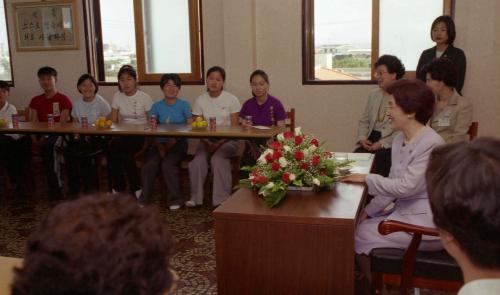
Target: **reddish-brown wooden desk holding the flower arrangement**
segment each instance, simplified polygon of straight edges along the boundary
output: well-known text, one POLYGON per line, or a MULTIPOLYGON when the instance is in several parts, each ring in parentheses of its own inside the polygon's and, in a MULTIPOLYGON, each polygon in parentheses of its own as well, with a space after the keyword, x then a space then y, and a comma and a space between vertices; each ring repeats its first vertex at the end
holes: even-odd
MULTIPOLYGON (((367 173, 372 158, 356 162, 367 173)), ((353 294, 354 230, 366 186, 289 192, 269 209, 240 189, 215 211, 218 294, 353 294)))

